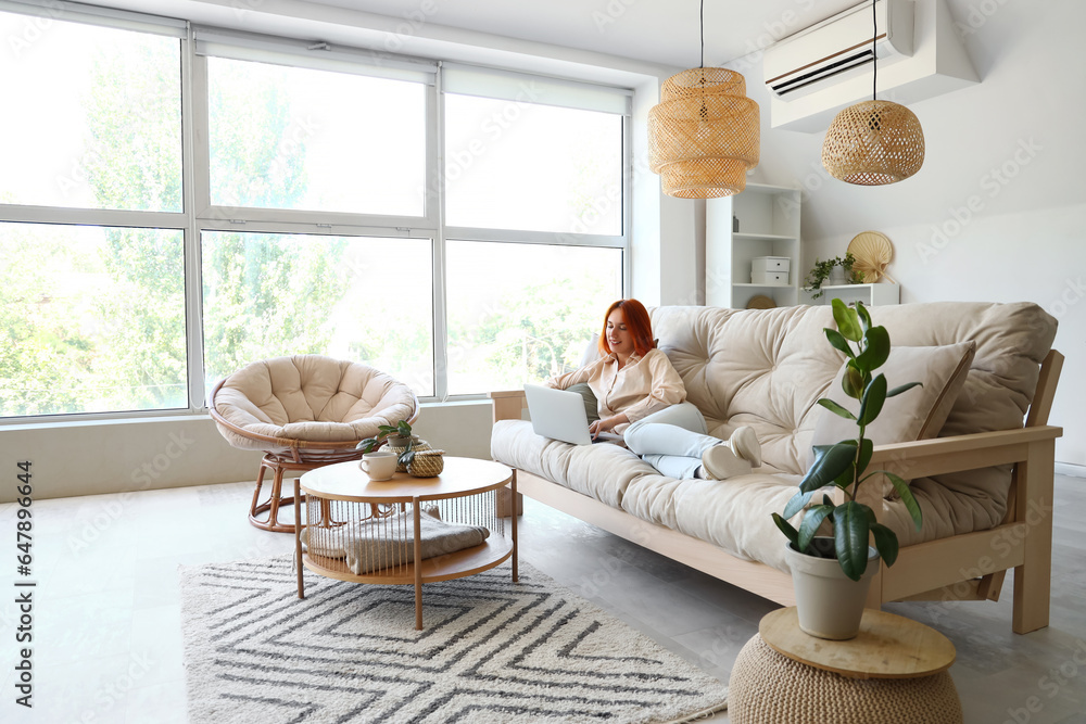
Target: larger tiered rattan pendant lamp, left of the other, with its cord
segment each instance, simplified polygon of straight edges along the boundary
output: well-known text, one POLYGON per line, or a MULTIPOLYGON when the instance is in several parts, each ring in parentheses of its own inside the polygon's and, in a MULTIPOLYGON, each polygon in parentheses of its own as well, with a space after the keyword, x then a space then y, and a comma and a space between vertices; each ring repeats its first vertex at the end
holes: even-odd
POLYGON ((648 162, 664 193, 717 199, 746 188, 758 165, 758 104, 734 71, 705 67, 705 0, 702 0, 702 66, 668 78, 660 103, 648 112, 648 162))

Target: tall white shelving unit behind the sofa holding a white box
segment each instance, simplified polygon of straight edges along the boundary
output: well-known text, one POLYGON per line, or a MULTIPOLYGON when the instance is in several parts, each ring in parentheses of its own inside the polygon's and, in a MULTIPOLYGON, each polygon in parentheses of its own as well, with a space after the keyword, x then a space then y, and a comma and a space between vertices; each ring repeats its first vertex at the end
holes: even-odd
POLYGON ((705 303, 745 309, 756 295, 776 306, 799 304, 799 189, 747 183, 734 196, 710 199, 705 217, 705 303), (732 230, 732 217, 738 231, 732 230), (791 259, 787 284, 754 284, 750 261, 758 256, 791 259))

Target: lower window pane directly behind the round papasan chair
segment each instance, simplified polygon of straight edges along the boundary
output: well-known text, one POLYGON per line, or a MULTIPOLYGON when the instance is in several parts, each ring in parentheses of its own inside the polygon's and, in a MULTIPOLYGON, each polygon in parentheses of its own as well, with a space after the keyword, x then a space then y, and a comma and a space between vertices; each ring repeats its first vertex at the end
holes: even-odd
POLYGON ((205 231, 206 382, 254 359, 326 354, 364 361, 417 395, 432 395, 430 245, 205 231))

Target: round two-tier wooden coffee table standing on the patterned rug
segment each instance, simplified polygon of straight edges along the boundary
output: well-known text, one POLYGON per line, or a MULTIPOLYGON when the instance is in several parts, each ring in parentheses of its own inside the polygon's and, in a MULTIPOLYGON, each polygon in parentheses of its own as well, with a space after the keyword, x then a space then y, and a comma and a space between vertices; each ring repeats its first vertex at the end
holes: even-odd
POLYGON ((303 566, 340 581, 414 584, 415 627, 421 630, 424 583, 472 575, 509 559, 517 581, 517 517, 506 530, 497 515, 497 491, 506 485, 515 496, 515 470, 458 457, 445 457, 434 478, 397 472, 372 481, 357 461, 306 472, 294 481, 294 500, 305 494, 305 520, 294 505, 298 597, 305 597, 303 566), (489 535, 478 545, 424 558, 420 518, 427 513, 443 523, 485 528, 489 535))

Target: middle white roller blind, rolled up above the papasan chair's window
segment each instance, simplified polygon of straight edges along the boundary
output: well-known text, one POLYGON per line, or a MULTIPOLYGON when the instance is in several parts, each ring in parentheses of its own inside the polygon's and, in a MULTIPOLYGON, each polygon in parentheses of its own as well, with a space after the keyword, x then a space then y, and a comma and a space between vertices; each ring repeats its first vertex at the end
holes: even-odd
POLYGON ((438 71, 438 64, 430 61, 252 33, 198 27, 195 40, 198 55, 236 61, 257 61, 426 84, 433 82, 438 71))

